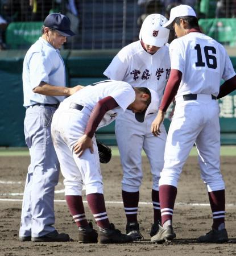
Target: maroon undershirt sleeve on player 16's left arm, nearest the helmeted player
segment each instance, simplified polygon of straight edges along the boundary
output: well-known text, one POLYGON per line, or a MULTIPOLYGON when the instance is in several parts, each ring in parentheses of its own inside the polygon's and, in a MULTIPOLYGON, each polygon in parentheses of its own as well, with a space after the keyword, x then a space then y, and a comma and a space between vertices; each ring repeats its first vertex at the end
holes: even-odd
POLYGON ((167 86, 165 87, 162 102, 160 103, 159 109, 166 112, 169 104, 171 104, 173 98, 179 89, 180 82, 182 79, 182 72, 177 69, 171 69, 167 86))

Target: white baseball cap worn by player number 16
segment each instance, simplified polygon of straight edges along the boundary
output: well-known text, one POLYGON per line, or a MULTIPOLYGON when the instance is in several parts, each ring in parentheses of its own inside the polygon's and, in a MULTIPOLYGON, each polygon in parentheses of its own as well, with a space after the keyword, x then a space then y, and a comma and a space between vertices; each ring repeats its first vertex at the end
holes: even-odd
POLYGON ((169 16, 169 21, 164 24, 163 27, 168 28, 169 30, 172 29, 172 23, 175 18, 182 17, 182 16, 194 16, 196 17, 195 11, 189 5, 178 5, 171 9, 171 15, 169 16))

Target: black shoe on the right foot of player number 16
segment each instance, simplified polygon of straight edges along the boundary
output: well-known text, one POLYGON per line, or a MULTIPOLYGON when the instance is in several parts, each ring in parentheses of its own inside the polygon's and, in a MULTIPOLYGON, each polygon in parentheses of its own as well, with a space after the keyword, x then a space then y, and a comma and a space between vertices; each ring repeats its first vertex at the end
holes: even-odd
POLYGON ((199 237, 197 241, 201 243, 224 243, 229 241, 229 238, 226 229, 212 229, 205 236, 199 237))

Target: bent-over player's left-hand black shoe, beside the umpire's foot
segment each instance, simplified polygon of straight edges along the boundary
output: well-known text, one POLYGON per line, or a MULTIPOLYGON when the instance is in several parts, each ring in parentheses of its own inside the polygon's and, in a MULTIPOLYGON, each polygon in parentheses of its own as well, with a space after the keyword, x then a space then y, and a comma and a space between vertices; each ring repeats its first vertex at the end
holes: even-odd
POLYGON ((97 243, 97 230, 93 229, 92 222, 85 228, 78 228, 78 242, 80 243, 97 243))

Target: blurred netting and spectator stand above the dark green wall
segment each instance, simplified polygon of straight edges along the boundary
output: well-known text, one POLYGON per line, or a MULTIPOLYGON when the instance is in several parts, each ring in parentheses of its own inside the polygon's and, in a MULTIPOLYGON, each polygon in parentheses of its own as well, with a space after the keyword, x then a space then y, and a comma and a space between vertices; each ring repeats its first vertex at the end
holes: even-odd
POLYGON ((42 21, 49 13, 61 12, 71 19, 76 36, 69 49, 121 48, 138 39, 146 15, 169 16, 173 6, 191 5, 202 30, 215 39, 235 45, 236 0, 1 0, 2 47, 27 48, 40 36, 42 21), (227 41, 221 35, 227 34, 227 41), (234 36, 233 36, 234 35, 234 36))

